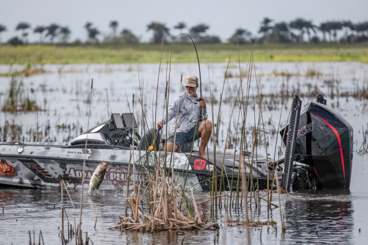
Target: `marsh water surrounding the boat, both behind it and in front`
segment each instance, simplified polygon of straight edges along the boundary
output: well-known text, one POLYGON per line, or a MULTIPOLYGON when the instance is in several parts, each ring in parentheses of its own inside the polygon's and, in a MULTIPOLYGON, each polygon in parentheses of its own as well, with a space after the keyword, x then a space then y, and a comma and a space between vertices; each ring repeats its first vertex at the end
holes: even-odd
MULTIPOLYGON (((212 92, 218 97, 225 64, 210 64, 210 80, 212 92)), ((51 131, 57 139, 62 139, 68 132, 57 131, 55 125, 61 123, 79 123, 85 130, 88 115, 86 114, 90 78, 95 79, 94 97, 92 98, 91 124, 101 122, 107 118, 106 94, 109 96, 110 111, 126 112, 127 102, 125 91, 131 100, 131 94, 137 94, 138 71, 140 78, 145 80, 145 93, 147 112, 152 111, 152 95, 156 91, 157 64, 141 65, 50 65, 44 67, 47 73, 24 78, 26 90, 33 88, 31 98, 43 104, 46 98, 46 111, 39 112, 39 122, 51 121, 51 131), (107 92, 106 92, 107 91, 107 92)), ((16 69, 16 67, 13 67, 16 69)), ((172 66, 173 86, 170 97, 179 93, 179 77, 184 73, 195 73, 196 64, 175 64, 172 66)), ((230 71, 237 73, 237 67, 230 71)), ((308 91, 307 84, 319 87, 328 99, 329 105, 335 108, 349 121, 354 128, 354 149, 359 149, 362 144, 362 125, 367 127, 367 101, 354 98, 329 98, 330 88, 323 83, 324 79, 336 78, 341 80, 340 93, 354 91, 357 87, 364 87, 367 83, 368 65, 360 63, 261 63, 257 64, 260 74, 263 94, 267 94, 272 82, 274 90, 281 91, 286 83, 285 77, 272 77, 269 74, 277 72, 305 74, 308 69, 315 69, 321 74, 319 77, 302 77, 300 89, 308 91), (266 92, 265 92, 266 91, 266 92)), ((8 66, 0 66, 0 72, 7 72, 8 66)), ((164 73, 164 72, 163 72, 164 73)), ((164 74, 161 75, 161 78, 164 74)), ((209 79, 203 74, 203 79, 209 79), (204 78, 205 77, 205 78, 204 78)), ((291 76, 288 86, 293 86, 299 81, 299 76, 291 76)), ((163 78, 164 80, 164 78, 163 78)), ((9 78, 0 77, 0 96, 6 96, 9 78)), ((161 81, 162 82, 162 81, 161 81)), ((163 81, 164 82, 164 81, 163 81)), ((208 81, 207 81, 208 82, 208 81)), ((234 97, 237 91, 238 78, 233 77, 225 86, 226 97, 234 97)), ((205 86, 205 85, 204 85, 205 86)), ((207 85, 206 85, 207 86, 207 85)), ((296 85, 295 85, 296 86, 296 85)), ((256 91, 256 90, 255 90, 256 91)), ((159 90, 162 96, 163 91, 159 90)), ((209 90, 204 89, 204 96, 209 98, 209 90)), ((162 96, 163 97, 163 96, 162 96)), ((302 98, 303 99, 303 98, 302 98)), ((224 102, 225 108, 230 108, 232 100, 224 102), (227 107, 226 107, 227 106, 227 107)), ((306 104, 308 99, 304 99, 306 104)), ((162 101, 158 101, 162 105, 162 101)), ((284 113, 288 113, 286 106, 284 113)), ((139 115, 137 104, 136 114, 139 115)), ((160 114, 162 111, 158 112, 160 114)), ((227 120, 231 110, 222 110, 222 121, 227 120)), ((253 111, 251 111, 253 114, 253 111)), ((214 110, 217 116, 217 109, 214 110)), ((211 115, 211 112, 210 112, 211 115)), ((283 114, 284 115, 284 114, 283 114)), ((28 128, 34 128, 34 113, 0 113, 2 120, 15 120, 21 124, 24 132, 28 128)), ((252 115, 253 116, 253 115, 252 115)), ((269 109, 264 112, 264 121, 270 121, 271 125, 277 124, 280 116, 280 108, 269 109)), ((287 115, 284 115, 287 117, 287 115)), ((151 115, 149 116, 151 117, 151 115)), ((159 116, 158 116, 159 117, 159 116)), ((2 123, 1 123, 2 124, 2 123)), ((227 124, 221 125, 226 131, 227 124)), ((270 130, 270 124, 266 125, 266 131, 270 130)), ((79 129, 75 129, 77 134, 79 129)), ((73 132, 72 132, 73 134, 73 132)), ((222 136, 225 135, 224 133, 222 136)), ((270 137, 270 147, 275 147, 274 135, 270 137)), ((221 142, 221 141, 220 141, 221 142)), ((224 143, 220 143, 224 144, 224 143)), ((258 153, 263 153, 259 149, 258 153), (261 152, 260 152, 261 151, 261 152)), ((245 220, 244 210, 217 209, 210 212, 210 205, 202 203, 199 211, 207 215, 209 221, 218 221, 218 231, 190 231, 190 232, 160 232, 144 234, 137 232, 120 232, 107 228, 118 222, 118 216, 124 215, 125 196, 123 193, 99 192, 94 196, 85 196, 83 200, 82 230, 94 244, 368 244, 368 191, 367 191, 367 155, 354 153, 351 185, 349 191, 323 190, 307 191, 296 194, 282 195, 282 207, 285 208, 287 231, 281 232, 280 211, 273 208, 267 212, 264 202, 261 202, 260 210, 251 210, 252 221, 277 221, 277 230, 264 226, 260 228, 231 227, 229 218, 245 220), (96 217, 98 219, 94 229, 96 217), (318 227, 318 232, 316 229, 318 227)), ((73 224, 79 222, 80 191, 71 190, 71 196, 76 204, 73 209, 68 196, 64 195, 64 203, 69 221, 73 224)), ((209 196, 208 193, 195 193, 196 197, 209 196)), ((274 195, 274 203, 278 203, 274 195)), ((67 219, 65 219, 65 224, 67 219)), ((35 231, 38 243, 39 230, 42 230, 45 244, 59 243, 58 237, 61 227, 61 195, 59 190, 31 190, 31 189, 0 189, 0 245, 2 244, 26 244, 29 241, 28 231, 35 231), (3 208, 3 209, 2 209, 3 208), (2 213, 3 211, 3 213, 2 213)), ((41 243, 42 244, 42 243, 41 243)))

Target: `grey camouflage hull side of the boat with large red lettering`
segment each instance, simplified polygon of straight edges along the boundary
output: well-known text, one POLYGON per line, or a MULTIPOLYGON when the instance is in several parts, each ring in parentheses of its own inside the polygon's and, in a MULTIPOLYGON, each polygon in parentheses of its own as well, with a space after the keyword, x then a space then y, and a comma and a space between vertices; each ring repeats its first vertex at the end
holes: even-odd
MULTIPOLYGON (((67 187, 71 189, 80 189, 83 174, 83 161, 81 159, 51 159, 31 158, 19 154, 18 157, 0 156, 4 166, 0 173, 0 183, 9 186, 19 186, 27 188, 57 188, 60 186, 60 180, 64 180, 67 187)), ((170 156, 168 156, 170 157, 170 156)), ((175 167, 182 166, 185 168, 185 156, 173 157, 173 165, 175 167)), ((162 159, 163 160, 163 159, 162 159)), ((169 159, 168 159, 168 162, 169 159)), ((89 180, 100 161, 86 160, 84 172, 84 187, 88 188, 89 180)), ((161 165, 163 162, 161 162, 161 165)), ((131 164, 131 181, 134 179, 141 180, 145 176, 146 169, 139 165, 138 161, 134 165, 131 164)), ((122 189, 127 184, 128 163, 113 162, 107 167, 105 180, 102 182, 100 189, 114 190, 122 189)), ((178 169, 175 176, 179 183, 184 183, 185 172, 178 169)), ((192 186, 198 183, 197 176, 188 173, 186 176, 186 186, 192 186)), ((199 187, 197 185, 196 187, 199 187)), ((200 187, 199 187, 200 188, 200 187)))

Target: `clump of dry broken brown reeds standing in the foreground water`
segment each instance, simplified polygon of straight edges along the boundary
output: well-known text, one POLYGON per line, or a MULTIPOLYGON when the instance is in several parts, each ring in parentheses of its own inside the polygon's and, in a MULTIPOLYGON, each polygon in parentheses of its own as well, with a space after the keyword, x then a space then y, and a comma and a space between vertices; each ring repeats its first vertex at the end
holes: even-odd
MULTIPOLYGON (((147 180, 150 193, 147 198, 148 204, 151 206, 148 213, 138 206, 140 200, 139 192, 136 198, 128 197, 127 203, 131 210, 131 216, 119 216, 119 223, 109 229, 121 229, 141 232, 157 232, 163 230, 188 230, 188 229, 216 229, 217 222, 206 224, 206 218, 200 214, 194 199, 193 192, 191 199, 193 204, 190 205, 189 198, 185 196, 182 189, 181 195, 178 197, 178 189, 175 178, 171 178, 169 182, 165 176, 165 171, 157 169, 155 175, 150 175, 147 180), (181 199, 182 204, 179 205, 181 199), (181 206, 184 206, 183 210, 181 206)), ((141 184, 139 190, 141 190, 141 184)))

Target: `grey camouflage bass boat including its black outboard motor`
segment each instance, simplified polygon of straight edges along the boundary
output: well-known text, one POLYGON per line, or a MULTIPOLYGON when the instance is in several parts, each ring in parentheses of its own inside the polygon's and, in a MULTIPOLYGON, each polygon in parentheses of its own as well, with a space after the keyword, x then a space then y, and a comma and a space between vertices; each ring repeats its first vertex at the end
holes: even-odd
POLYGON ((64 181, 67 188, 80 189, 84 175, 84 187, 88 188, 96 167, 111 161, 100 190, 123 190, 128 176, 130 181, 143 179, 158 165, 184 188, 200 191, 241 188, 242 176, 260 190, 267 184, 275 189, 275 176, 286 190, 349 188, 353 129, 326 105, 323 96, 303 110, 295 96, 289 124, 280 137, 286 145, 282 159, 217 148, 209 148, 208 157, 199 157, 193 144, 180 153, 164 152, 159 130, 146 130, 141 137, 132 113, 113 113, 70 143, 1 143, 0 187, 50 189, 60 188, 64 181), (240 156, 245 172, 239 168, 240 156))

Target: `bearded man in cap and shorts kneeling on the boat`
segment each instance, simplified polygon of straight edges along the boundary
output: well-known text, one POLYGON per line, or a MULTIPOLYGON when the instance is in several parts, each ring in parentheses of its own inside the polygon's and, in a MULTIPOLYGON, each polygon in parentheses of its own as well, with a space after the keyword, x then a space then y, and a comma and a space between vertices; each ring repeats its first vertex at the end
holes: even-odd
MULTIPOLYGON (((206 147, 210 140, 212 123, 207 120, 206 100, 197 97, 198 86, 198 77, 194 75, 185 77, 185 92, 174 99, 167 112, 167 122, 176 119, 177 116, 178 122, 167 138, 163 150, 171 151, 174 146, 175 152, 181 152, 185 143, 201 138, 198 156, 207 157, 206 147)), ((164 114, 157 123, 157 128, 167 122, 164 114)))

